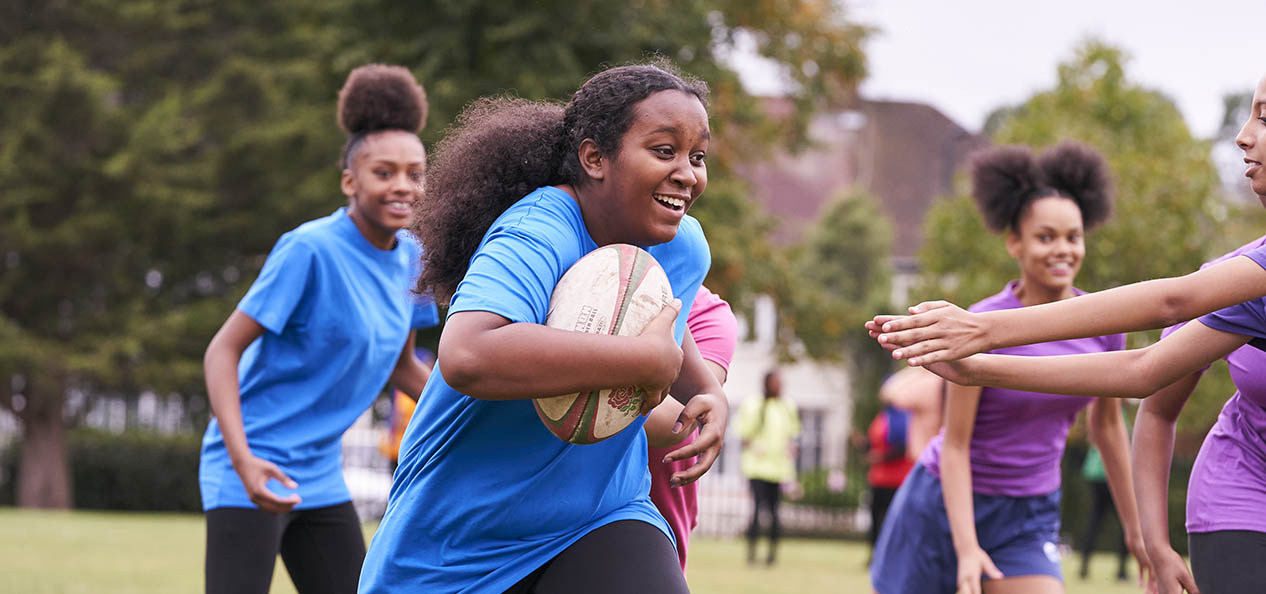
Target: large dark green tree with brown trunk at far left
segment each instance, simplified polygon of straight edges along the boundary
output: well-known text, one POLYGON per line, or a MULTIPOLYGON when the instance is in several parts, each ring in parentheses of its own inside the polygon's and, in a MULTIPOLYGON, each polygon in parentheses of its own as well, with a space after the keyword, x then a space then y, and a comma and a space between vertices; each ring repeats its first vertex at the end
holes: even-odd
POLYGON ((23 424, 18 503, 63 508, 66 395, 200 395, 242 279, 341 203, 330 77, 298 6, 0 11, 0 407, 23 424))

